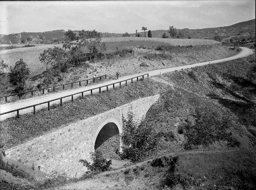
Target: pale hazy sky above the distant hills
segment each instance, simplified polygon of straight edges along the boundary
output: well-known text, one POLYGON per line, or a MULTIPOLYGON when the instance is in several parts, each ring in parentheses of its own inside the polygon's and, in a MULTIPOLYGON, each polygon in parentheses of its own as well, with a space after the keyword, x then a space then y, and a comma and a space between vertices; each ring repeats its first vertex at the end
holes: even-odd
POLYGON ((0 34, 58 29, 135 33, 212 28, 255 19, 255 0, 221 1, 2 1, 0 34))

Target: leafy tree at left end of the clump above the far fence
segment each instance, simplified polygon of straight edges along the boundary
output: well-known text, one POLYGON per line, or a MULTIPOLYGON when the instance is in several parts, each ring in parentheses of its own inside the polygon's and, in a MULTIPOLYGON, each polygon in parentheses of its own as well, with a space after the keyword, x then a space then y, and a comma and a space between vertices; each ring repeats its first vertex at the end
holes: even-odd
POLYGON ((67 71, 67 53, 64 49, 54 46, 40 54, 39 60, 46 65, 47 82, 52 84, 54 77, 61 79, 61 73, 67 71))

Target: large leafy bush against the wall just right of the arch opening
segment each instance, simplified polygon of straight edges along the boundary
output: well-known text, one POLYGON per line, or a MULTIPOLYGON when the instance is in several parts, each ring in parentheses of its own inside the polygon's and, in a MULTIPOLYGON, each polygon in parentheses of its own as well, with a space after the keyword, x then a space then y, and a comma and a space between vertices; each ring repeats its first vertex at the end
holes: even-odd
POLYGON ((120 136, 123 146, 122 153, 119 153, 121 159, 136 162, 154 150, 159 136, 151 126, 135 120, 131 110, 127 113, 127 119, 123 117, 122 122, 123 132, 120 136))

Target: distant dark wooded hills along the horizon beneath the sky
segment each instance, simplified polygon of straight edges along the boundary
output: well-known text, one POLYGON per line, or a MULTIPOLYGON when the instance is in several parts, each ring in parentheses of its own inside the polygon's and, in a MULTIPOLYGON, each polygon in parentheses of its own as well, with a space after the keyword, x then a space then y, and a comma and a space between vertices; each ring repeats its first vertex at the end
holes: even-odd
MULTIPOLYGON (((166 28, 168 28, 167 26, 166 28)), ((138 28, 140 30, 140 28, 138 28)), ((150 29, 150 28, 148 28, 150 29)), ((79 31, 75 31, 78 34, 79 31)), ((217 28, 202 28, 202 29, 177 29, 181 38, 200 38, 200 39, 212 39, 215 36, 219 36, 220 40, 229 40, 230 38, 244 38, 255 36, 255 19, 236 23, 231 26, 217 27, 217 28)), ((124 32, 125 33, 125 32, 124 32)), ((169 35, 168 30, 154 30, 152 31, 152 37, 162 37, 163 33, 169 35)), ((21 32, 18 34, 0 34, 0 44, 9 43, 58 43, 64 40, 65 31, 54 30, 46 32, 21 32)), ((138 32, 140 36, 144 36, 144 31, 138 32)), ((136 34, 130 34, 134 37, 136 34)), ((116 33, 102 33, 102 37, 122 37, 122 34, 116 33)))

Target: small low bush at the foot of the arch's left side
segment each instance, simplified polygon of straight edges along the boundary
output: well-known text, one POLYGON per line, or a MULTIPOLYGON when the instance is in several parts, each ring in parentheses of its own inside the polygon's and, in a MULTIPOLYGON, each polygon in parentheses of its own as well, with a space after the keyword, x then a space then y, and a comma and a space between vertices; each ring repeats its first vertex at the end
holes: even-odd
POLYGON ((109 167, 112 164, 112 161, 107 161, 105 158, 103 158, 102 153, 100 153, 99 151, 90 153, 90 158, 93 161, 92 164, 85 159, 80 159, 79 162, 81 162, 91 172, 107 171, 109 170, 109 167))

